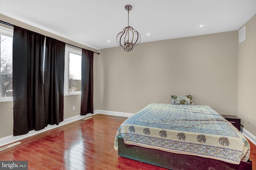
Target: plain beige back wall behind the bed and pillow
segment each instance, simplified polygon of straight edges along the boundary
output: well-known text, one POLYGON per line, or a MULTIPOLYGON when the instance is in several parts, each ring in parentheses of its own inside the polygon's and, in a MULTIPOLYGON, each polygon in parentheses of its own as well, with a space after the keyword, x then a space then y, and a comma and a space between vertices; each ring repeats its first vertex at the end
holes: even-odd
POLYGON ((171 95, 192 95, 195 105, 237 115, 237 31, 140 43, 132 51, 102 49, 98 108, 136 113, 171 95))

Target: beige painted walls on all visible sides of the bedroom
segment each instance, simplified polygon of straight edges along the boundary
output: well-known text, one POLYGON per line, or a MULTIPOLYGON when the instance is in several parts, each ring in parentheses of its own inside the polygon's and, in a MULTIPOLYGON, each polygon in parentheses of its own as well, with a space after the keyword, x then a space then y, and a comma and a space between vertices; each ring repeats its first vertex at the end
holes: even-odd
MULTIPOLYGON (((97 51, 0 14, 0 20, 66 43, 97 51)), ((193 95, 195 105, 238 115, 256 135, 256 16, 246 24, 246 41, 224 32, 140 43, 94 55, 94 110, 136 113, 149 103, 170 103, 170 95, 193 95), (250 116, 250 124, 246 123, 250 116)), ((64 119, 79 115, 80 95, 64 97, 64 119), (76 111, 72 111, 76 106, 76 111)), ((12 102, 0 103, 0 138, 12 135, 12 102)))

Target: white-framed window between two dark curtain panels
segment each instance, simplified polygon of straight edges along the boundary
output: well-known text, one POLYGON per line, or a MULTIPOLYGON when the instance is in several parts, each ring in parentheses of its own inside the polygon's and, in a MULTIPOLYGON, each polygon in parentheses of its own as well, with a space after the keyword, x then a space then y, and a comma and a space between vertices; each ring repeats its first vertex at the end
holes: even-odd
POLYGON ((81 94, 82 50, 66 45, 64 94, 81 94))

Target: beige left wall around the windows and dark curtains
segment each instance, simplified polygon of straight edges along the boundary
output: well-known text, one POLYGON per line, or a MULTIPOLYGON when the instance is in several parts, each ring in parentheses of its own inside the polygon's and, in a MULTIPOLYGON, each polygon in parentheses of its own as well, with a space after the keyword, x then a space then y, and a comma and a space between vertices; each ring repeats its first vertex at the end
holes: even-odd
MULTIPOLYGON (((24 24, 22 22, 19 22, 17 20, 14 20, 12 18, 6 17, 1 14, 0 14, 0 20, 7 22, 9 24, 13 24, 16 26, 20 26, 22 28, 26 28, 26 29, 34 31, 34 32, 38 32, 45 36, 55 38, 62 42, 66 42, 66 43, 69 43, 72 45, 76 45, 78 47, 82 47, 84 49, 89 49, 89 50, 98 52, 98 50, 96 50, 96 49, 92 49, 90 47, 78 44, 76 42, 72 42, 72 41, 62 38, 60 36, 56 36, 54 34, 51 34, 44 30, 40 30, 40 29, 30 26, 28 24, 24 24)), ((94 56, 96 57, 97 55, 98 54, 95 54, 94 56)), ((94 67, 96 68, 96 65, 94 67)), ((80 106, 81 106, 81 95, 64 96, 64 119, 74 117, 76 115, 80 115, 80 106), (75 111, 72 111, 72 106, 76 106, 75 111)), ((12 107, 13 107, 12 102, 0 102, 0 138, 3 138, 3 137, 13 134, 13 110, 12 110, 12 107)))

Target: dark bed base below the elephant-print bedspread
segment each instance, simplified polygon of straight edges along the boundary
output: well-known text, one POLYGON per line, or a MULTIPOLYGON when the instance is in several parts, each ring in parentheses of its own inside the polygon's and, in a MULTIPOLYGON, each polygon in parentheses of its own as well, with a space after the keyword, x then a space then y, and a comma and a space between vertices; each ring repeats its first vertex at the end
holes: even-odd
POLYGON ((172 170, 252 170, 252 162, 250 160, 248 162, 241 161, 239 165, 230 164, 210 158, 175 154, 162 150, 128 145, 124 143, 123 138, 118 138, 118 156, 172 170))

